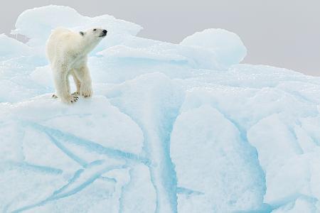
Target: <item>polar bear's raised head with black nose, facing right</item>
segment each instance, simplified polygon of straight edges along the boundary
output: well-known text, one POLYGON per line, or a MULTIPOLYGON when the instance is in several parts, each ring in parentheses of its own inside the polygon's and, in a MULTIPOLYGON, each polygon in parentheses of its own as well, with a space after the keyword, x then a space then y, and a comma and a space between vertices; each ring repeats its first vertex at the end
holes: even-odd
POLYGON ((85 32, 80 31, 82 45, 84 46, 86 52, 89 53, 95 46, 100 43, 102 38, 107 35, 107 30, 102 28, 91 28, 85 32))

